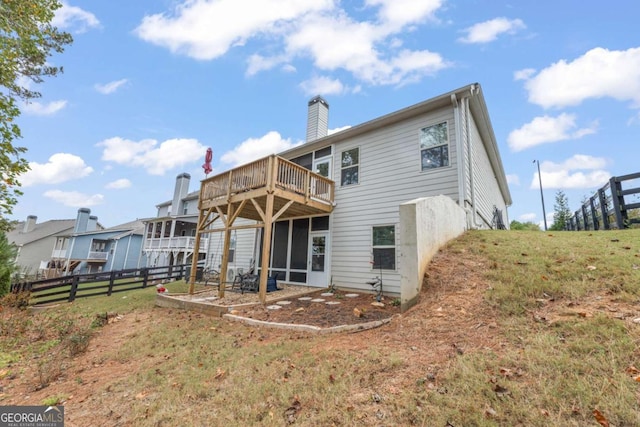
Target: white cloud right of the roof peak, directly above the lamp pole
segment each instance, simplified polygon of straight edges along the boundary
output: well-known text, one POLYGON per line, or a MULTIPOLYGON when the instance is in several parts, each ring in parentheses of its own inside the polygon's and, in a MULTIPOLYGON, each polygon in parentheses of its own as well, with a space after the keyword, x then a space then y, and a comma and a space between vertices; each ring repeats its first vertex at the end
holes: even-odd
POLYGON ((520 129, 512 131, 507 142, 513 151, 522 151, 540 144, 579 139, 585 135, 595 133, 598 123, 591 123, 589 127, 576 129, 576 115, 562 113, 557 117, 542 116, 534 118, 520 129))

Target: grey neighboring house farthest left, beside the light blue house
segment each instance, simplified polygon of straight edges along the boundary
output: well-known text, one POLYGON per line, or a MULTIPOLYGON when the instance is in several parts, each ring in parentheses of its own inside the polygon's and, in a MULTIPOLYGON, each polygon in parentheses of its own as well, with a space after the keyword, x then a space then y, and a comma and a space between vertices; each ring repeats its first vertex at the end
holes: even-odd
POLYGON ((16 265, 27 276, 36 275, 42 262, 51 257, 51 248, 58 237, 73 231, 75 219, 54 219, 38 223, 38 217, 29 215, 7 233, 9 243, 16 245, 16 265))

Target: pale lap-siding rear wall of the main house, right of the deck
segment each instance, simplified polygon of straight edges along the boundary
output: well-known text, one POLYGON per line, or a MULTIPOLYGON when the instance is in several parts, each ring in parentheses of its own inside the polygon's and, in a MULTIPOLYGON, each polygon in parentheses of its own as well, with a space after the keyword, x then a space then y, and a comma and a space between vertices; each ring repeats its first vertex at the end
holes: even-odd
POLYGON ((419 197, 458 197, 456 134, 453 108, 397 123, 334 146, 336 208, 332 214, 331 272, 339 287, 371 290, 366 280, 380 275, 372 268, 372 227, 394 225, 396 270, 382 270, 383 291, 400 294, 399 206, 419 197), (421 170, 420 129, 447 122, 449 166, 421 170), (341 153, 359 148, 358 184, 340 185, 341 153))

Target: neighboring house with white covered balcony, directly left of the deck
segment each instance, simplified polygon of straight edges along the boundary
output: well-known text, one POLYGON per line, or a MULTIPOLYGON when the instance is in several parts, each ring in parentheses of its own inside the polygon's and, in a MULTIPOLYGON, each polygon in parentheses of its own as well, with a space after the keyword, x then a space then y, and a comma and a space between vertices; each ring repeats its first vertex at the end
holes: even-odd
MULTIPOLYGON (((142 220, 145 229, 143 253, 150 267, 191 264, 193 260, 200 193, 199 191, 189 192, 190 181, 191 175, 188 173, 178 175, 173 199, 156 205, 158 209, 156 217, 142 220)), ((220 227, 222 224, 218 221, 211 226, 220 227)), ((248 271, 254 248, 255 231, 245 230, 231 234, 228 281, 233 281, 236 273, 248 271), (236 256, 236 254, 242 255, 236 256)), ((205 267, 219 270, 222 251, 223 236, 220 234, 204 235, 200 239, 198 258, 205 267)))

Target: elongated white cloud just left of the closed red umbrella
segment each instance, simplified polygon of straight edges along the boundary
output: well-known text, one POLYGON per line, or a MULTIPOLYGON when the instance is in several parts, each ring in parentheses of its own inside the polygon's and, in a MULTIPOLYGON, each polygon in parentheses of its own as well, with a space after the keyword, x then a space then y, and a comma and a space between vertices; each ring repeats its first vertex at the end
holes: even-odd
POLYGON ((202 162, 207 147, 195 139, 169 139, 160 144, 154 139, 131 141, 114 137, 96 144, 104 147, 102 160, 144 168, 151 175, 194 162, 202 162))

